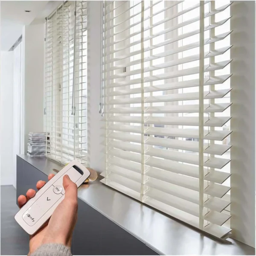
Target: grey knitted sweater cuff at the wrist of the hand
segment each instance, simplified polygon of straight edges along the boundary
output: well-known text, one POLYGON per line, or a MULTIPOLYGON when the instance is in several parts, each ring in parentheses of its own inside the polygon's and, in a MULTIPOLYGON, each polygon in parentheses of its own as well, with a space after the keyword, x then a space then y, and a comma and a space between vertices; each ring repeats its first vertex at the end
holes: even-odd
POLYGON ((43 244, 30 256, 72 256, 70 247, 63 244, 43 244))

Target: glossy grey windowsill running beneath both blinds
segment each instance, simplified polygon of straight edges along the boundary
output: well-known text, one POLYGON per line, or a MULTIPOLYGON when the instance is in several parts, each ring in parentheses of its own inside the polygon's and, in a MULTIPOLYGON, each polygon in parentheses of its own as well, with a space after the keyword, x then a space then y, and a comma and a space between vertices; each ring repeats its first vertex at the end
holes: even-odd
MULTIPOLYGON (((20 155, 46 175, 61 165, 46 157, 20 155)), ((231 244, 214 240, 198 230, 170 218, 102 184, 99 179, 79 188, 78 197, 105 217, 165 255, 254 255, 255 249, 233 239, 231 244)))

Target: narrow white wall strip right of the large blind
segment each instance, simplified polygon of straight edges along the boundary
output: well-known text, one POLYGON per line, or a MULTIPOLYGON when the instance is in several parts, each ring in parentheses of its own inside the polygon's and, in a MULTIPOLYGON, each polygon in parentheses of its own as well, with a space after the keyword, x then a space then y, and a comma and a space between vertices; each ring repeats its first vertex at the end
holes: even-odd
POLYGON ((234 1, 230 13, 232 237, 255 247, 255 2, 234 1))

